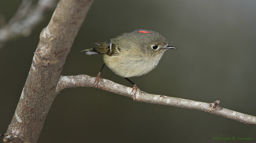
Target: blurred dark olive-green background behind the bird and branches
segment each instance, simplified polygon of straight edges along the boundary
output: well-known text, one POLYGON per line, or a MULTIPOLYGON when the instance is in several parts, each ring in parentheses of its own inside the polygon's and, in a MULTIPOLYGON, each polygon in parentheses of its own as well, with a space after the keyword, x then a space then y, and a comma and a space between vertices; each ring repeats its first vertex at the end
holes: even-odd
MULTIPOLYGON (((20 3, 0 1, 0 13, 9 20, 20 3)), ((0 49, 2 133, 13 118, 40 31, 51 14, 29 37, 0 49)), ((207 103, 220 100, 221 107, 256 116, 255 28, 256 1, 94 1, 62 75, 96 76, 102 55, 80 50, 124 32, 153 30, 177 49, 166 51, 150 73, 130 78, 142 91, 207 103)), ((108 68, 102 78, 132 87, 108 68)), ((38 142, 223 142, 212 139, 218 136, 250 136, 253 140, 247 142, 253 142, 256 127, 77 87, 57 95, 38 142)))

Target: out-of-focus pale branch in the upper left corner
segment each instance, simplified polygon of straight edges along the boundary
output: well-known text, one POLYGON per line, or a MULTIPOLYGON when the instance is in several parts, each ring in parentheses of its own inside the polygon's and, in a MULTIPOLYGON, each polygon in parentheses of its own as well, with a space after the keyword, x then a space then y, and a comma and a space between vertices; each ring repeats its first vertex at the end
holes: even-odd
POLYGON ((29 36, 56 5, 54 0, 39 0, 36 5, 32 5, 32 0, 23 0, 14 16, 0 29, 0 48, 8 41, 29 36))

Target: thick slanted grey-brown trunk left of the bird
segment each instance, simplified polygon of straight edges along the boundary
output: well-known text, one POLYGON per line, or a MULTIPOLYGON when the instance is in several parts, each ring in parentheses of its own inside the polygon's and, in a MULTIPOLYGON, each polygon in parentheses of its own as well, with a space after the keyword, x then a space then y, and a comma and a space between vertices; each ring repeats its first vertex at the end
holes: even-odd
POLYGON ((92 0, 60 1, 33 57, 26 83, 4 142, 37 142, 57 95, 56 86, 66 57, 92 0))

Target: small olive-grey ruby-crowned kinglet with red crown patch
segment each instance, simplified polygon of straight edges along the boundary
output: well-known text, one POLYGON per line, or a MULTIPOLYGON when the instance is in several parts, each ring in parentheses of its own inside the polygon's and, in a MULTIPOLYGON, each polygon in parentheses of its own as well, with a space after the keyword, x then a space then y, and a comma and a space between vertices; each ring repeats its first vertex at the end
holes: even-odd
MULTIPOLYGON (((92 49, 82 50, 87 55, 102 53, 104 64, 98 73, 94 84, 96 89, 101 82, 101 71, 106 64, 115 74, 133 84, 134 94, 138 87, 128 77, 141 76, 153 70, 166 49, 176 49, 169 46, 163 36, 150 30, 135 30, 112 38, 92 49)), ((131 93, 133 92, 131 91, 131 93)))

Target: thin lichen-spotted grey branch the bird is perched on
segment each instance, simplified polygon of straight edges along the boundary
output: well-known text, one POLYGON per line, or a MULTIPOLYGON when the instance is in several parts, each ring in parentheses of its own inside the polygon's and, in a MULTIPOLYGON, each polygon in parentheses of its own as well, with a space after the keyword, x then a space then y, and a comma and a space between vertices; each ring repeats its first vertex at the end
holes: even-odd
MULTIPOLYGON (((75 76, 60 76, 59 82, 57 84, 56 90, 59 92, 64 88, 70 87, 95 87, 92 85, 96 77, 91 77, 89 75, 75 75, 75 76)), ((106 91, 110 91, 116 94, 127 96, 133 98, 134 101, 168 105, 173 107, 195 109, 211 114, 216 114, 222 117, 230 118, 247 125, 256 125, 256 117, 248 114, 243 114, 233 110, 225 109, 219 107, 220 101, 214 101, 214 103, 204 103, 199 101, 193 101, 188 99, 181 99, 175 97, 168 97, 163 95, 148 94, 146 92, 140 91, 136 93, 136 96, 130 95, 132 88, 123 86, 121 84, 114 83, 113 81, 102 79, 102 84, 98 84, 98 88, 106 91)))

